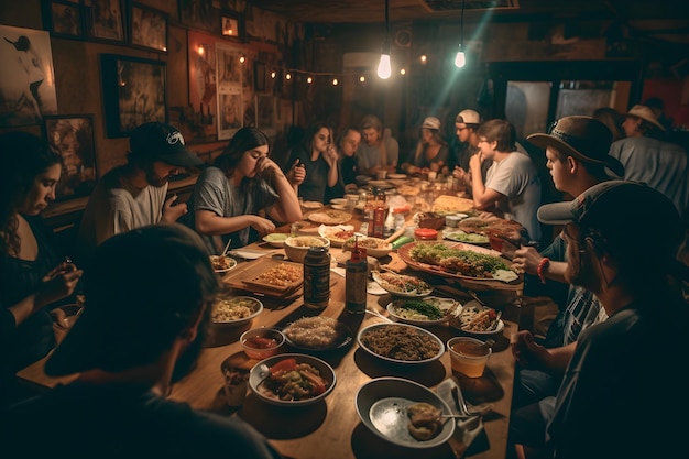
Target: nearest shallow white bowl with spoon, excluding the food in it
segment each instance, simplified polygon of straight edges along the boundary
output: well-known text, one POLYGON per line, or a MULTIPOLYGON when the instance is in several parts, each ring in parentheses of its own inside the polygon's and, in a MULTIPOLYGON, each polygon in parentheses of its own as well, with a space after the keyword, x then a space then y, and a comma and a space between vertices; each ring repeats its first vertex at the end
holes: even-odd
POLYGON ((371 380, 359 387, 354 395, 359 418, 369 430, 384 440, 416 449, 442 445, 455 434, 456 423, 451 419, 429 440, 417 440, 409 434, 406 407, 419 402, 431 404, 442 414, 452 414, 450 407, 435 392, 402 378, 371 380))

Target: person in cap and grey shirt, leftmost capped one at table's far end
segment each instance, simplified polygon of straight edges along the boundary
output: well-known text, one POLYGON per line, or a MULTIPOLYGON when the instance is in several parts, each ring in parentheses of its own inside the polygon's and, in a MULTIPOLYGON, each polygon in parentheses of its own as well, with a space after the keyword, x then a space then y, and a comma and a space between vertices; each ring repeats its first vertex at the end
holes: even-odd
POLYGON ((394 173, 400 161, 400 144, 385 135, 383 123, 374 114, 367 114, 360 124, 363 142, 357 150, 357 170, 359 174, 375 177, 379 172, 394 173))

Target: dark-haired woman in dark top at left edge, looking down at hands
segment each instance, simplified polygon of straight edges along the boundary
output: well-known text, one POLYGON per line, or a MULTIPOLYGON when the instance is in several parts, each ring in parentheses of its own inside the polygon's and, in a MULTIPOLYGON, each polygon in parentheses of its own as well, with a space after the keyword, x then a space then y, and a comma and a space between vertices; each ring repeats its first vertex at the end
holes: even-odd
MULTIPOLYGON (((0 398, 14 373, 55 346, 50 306, 73 294, 81 271, 61 262, 40 214, 55 199, 59 153, 35 135, 0 135, 0 398)), ((7 390, 6 390, 7 389, 7 390)))

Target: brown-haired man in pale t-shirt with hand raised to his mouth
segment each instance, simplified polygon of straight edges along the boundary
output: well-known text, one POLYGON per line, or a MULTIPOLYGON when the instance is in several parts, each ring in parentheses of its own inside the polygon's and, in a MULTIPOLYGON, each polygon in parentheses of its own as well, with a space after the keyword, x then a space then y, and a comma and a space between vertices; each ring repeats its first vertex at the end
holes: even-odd
POLYGON ((540 240, 536 209, 540 205, 540 178, 532 159, 515 150, 514 125, 494 119, 479 128, 480 154, 471 156, 471 194, 479 210, 493 209, 524 227, 529 241, 540 240), (492 160, 485 183, 481 176, 483 160, 492 160))

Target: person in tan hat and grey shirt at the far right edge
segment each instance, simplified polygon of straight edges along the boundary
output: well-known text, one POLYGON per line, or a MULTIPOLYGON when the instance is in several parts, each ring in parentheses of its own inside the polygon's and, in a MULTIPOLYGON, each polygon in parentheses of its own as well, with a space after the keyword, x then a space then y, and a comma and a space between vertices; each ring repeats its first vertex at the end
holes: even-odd
POLYGON ((626 139, 610 146, 610 154, 624 165, 624 178, 643 182, 663 193, 689 218, 689 154, 680 145, 667 142, 666 129, 658 112, 636 105, 622 123, 626 139))

